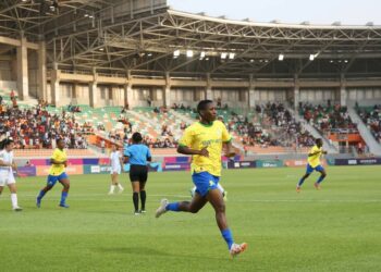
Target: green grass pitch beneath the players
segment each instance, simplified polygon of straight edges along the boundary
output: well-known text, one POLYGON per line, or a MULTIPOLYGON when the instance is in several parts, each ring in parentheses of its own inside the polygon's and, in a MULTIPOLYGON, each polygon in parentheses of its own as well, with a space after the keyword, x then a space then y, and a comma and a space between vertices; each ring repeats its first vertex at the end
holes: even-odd
POLYGON ((151 173, 147 214, 133 215, 125 190, 108 196, 109 175, 71 176, 70 209, 58 184, 35 207, 45 178, 19 178, 23 212, 0 197, 0 271, 380 271, 380 166, 328 168, 322 189, 304 169, 224 171, 228 222, 237 243, 231 259, 207 206, 198 214, 155 219, 162 197, 189 199, 189 173, 151 173))

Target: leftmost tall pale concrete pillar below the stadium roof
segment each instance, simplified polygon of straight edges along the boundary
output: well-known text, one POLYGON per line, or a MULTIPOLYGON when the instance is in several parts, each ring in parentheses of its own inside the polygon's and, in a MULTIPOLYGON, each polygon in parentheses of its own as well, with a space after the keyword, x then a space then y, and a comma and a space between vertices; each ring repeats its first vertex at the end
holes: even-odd
POLYGON ((21 100, 25 100, 29 96, 28 82, 28 51, 26 47, 26 38, 21 38, 21 46, 17 47, 17 89, 21 100))

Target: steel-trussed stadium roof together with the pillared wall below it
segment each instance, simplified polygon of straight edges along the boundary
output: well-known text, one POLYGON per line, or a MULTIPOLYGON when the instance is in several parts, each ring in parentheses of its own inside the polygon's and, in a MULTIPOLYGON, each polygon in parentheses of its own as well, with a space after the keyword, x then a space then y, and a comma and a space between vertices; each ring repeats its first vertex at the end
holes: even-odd
POLYGON ((381 26, 231 21, 161 1, 0 3, 0 81, 56 106, 381 99, 381 26))

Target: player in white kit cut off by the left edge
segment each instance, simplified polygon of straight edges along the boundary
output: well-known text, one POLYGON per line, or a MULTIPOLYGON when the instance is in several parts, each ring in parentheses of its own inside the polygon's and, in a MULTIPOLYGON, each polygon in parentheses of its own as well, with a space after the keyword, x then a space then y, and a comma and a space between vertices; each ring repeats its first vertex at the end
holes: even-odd
POLYGON ((11 191, 12 208, 14 211, 22 211, 17 203, 16 181, 14 180, 13 170, 16 170, 13 160, 13 140, 4 139, 0 144, 0 195, 7 185, 11 191))

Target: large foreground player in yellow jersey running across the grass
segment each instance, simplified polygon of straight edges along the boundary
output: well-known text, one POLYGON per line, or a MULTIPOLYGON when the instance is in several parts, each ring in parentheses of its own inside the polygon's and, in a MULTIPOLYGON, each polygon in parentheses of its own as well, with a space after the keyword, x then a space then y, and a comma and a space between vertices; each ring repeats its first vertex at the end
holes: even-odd
POLYGON ((218 184, 221 176, 222 146, 226 146, 226 157, 234 157, 232 136, 225 125, 216 120, 217 111, 211 100, 202 100, 197 106, 200 121, 185 129, 180 139, 177 152, 192 156, 192 180, 196 185, 196 194, 192 201, 172 202, 162 199, 156 211, 159 218, 167 211, 183 211, 197 213, 207 202, 216 212, 217 224, 222 237, 228 244, 230 254, 234 257, 243 252, 247 244, 235 244, 228 226, 225 203, 218 184))

